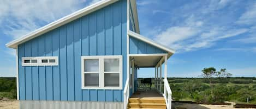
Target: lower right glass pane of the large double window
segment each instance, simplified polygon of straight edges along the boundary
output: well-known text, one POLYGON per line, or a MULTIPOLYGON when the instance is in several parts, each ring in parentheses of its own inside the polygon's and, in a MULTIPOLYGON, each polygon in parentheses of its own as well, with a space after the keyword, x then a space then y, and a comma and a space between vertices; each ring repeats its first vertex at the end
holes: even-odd
POLYGON ((119 74, 118 73, 105 73, 104 74, 105 87, 118 87, 119 86, 119 74))

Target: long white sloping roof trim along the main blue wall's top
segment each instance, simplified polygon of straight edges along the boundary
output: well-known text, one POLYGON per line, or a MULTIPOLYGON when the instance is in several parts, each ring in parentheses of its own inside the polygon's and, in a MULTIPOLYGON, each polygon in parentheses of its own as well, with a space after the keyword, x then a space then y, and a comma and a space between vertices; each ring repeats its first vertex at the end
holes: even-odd
POLYGON ((64 24, 67 24, 71 21, 74 21, 76 20, 77 18, 80 18, 84 15, 87 15, 87 14, 90 14, 91 12, 93 11, 96 11, 100 8, 103 8, 105 7, 106 5, 109 5, 109 4, 112 4, 114 2, 116 2, 118 0, 104 0, 104 1, 99 1, 97 3, 94 3, 92 5, 89 5, 88 7, 86 8, 83 8, 81 10, 78 10, 76 12, 74 12, 73 14, 70 14, 68 16, 65 16, 57 21, 54 21, 50 24, 47 24, 45 25, 44 27, 41 27, 37 30, 34 30, 32 31, 31 33, 25 35, 25 36, 22 36, 20 39, 16 39, 16 40, 13 40, 7 44, 5 44, 5 46, 9 47, 9 48, 17 48, 17 45, 21 44, 21 43, 24 43, 28 40, 31 40, 37 36, 40 36, 44 33, 46 33, 47 31, 50 31, 50 30, 53 30, 55 28, 58 28, 60 27, 61 25, 64 25, 64 24))

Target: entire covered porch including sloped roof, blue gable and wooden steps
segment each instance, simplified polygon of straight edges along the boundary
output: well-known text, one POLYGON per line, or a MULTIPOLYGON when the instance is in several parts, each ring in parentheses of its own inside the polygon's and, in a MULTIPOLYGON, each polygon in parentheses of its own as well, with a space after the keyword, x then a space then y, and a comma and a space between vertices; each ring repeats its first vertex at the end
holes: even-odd
POLYGON ((127 32, 127 50, 127 80, 123 89, 123 108, 171 109, 167 60, 175 53, 175 50, 130 30, 127 32), (154 68, 151 72, 154 73, 154 77, 145 80, 153 84, 150 90, 138 90, 137 71, 139 68, 154 68))

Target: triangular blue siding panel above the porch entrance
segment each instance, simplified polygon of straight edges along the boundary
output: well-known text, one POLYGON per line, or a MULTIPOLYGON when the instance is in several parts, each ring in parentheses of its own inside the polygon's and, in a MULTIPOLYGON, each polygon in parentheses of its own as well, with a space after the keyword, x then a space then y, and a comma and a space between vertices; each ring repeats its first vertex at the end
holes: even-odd
POLYGON ((162 49, 159 49, 144 41, 138 40, 132 36, 129 36, 129 54, 157 54, 167 53, 162 49))

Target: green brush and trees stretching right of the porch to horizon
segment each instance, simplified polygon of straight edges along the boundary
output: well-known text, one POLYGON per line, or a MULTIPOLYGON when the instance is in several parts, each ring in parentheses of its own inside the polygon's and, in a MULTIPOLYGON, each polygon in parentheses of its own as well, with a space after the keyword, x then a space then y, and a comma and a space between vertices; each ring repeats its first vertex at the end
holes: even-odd
POLYGON ((205 78, 168 78, 168 81, 175 100, 216 103, 248 101, 249 104, 256 104, 256 78, 211 78, 212 88, 205 78))

